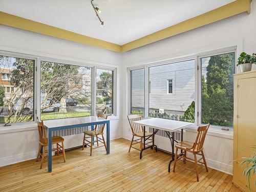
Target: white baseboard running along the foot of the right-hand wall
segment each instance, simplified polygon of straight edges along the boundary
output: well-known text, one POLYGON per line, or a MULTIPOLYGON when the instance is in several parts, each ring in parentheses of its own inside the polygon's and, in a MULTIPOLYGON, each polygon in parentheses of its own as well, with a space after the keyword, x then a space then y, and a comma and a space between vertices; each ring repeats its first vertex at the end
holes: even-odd
MULTIPOLYGON (((122 138, 127 139, 127 140, 131 140, 131 137, 132 136, 130 134, 123 134, 122 138)), ((159 150, 161 150, 161 148, 159 148, 159 150)), ((163 151, 166 152, 166 150, 163 150, 163 151)), ((189 158, 194 158, 194 156, 192 154, 187 154, 187 156, 189 158)), ((229 174, 229 175, 233 175, 233 166, 232 165, 225 164, 225 163, 215 161, 215 160, 212 160, 212 159, 207 159, 207 158, 205 158, 205 160, 206 160, 206 163, 207 163, 208 167, 219 170, 220 172, 223 172, 223 173, 226 173, 226 174, 229 174)))

